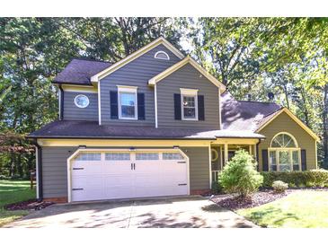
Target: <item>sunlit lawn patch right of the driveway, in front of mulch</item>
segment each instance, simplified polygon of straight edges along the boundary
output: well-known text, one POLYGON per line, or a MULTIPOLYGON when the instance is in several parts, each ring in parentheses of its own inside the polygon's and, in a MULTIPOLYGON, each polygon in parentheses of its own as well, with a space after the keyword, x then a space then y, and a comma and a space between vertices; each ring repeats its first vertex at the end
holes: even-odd
POLYGON ((265 227, 328 227, 328 191, 299 190, 237 214, 265 227))

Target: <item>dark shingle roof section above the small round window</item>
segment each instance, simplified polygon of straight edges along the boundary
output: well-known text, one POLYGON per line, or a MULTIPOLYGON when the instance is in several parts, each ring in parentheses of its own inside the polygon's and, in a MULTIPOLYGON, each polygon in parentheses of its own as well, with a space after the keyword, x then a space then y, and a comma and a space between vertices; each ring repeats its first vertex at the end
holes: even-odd
POLYGON ((53 80, 54 83, 91 85, 90 78, 111 66, 109 62, 75 58, 53 80))

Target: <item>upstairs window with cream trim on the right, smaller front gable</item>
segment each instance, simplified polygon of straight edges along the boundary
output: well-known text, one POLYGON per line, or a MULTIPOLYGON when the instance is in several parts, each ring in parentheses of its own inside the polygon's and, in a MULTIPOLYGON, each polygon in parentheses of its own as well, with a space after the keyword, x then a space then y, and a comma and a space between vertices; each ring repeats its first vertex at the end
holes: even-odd
POLYGON ((198 120, 198 90, 180 89, 182 101, 182 119, 198 120))

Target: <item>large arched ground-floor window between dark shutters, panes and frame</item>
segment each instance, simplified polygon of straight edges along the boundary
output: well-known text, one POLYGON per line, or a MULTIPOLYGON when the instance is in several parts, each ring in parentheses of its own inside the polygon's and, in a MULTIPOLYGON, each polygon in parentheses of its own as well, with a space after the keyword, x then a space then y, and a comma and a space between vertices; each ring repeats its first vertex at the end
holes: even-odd
POLYGON ((272 137, 269 148, 270 171, 299 171, 300 149, 294 136, 281 132, 272 137))

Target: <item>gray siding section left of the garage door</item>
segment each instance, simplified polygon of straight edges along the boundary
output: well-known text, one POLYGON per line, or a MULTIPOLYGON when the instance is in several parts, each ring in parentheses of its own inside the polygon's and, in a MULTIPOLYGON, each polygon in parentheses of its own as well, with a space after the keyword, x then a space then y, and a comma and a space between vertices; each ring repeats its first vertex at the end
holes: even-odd
POLYGON ((43 198, 67 197, 67 158, 75 147, 42 147, 43 198))

